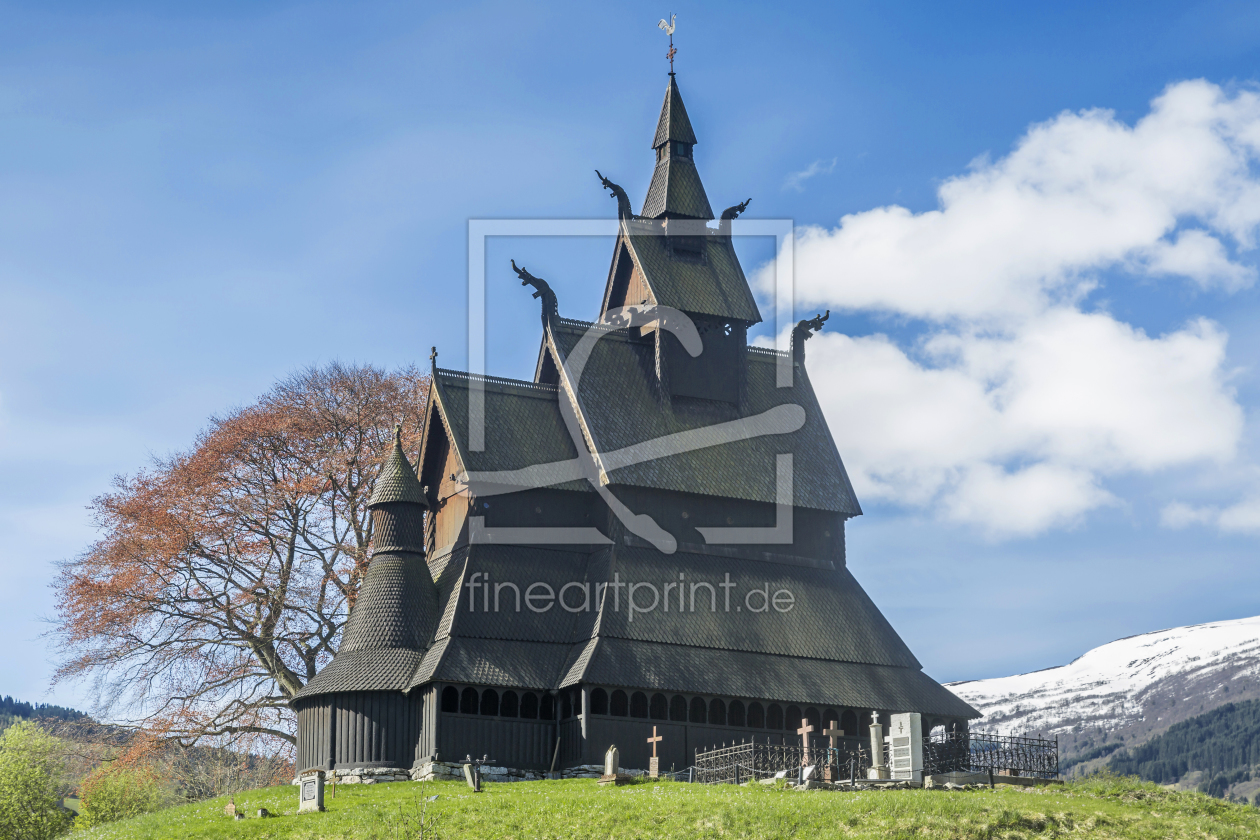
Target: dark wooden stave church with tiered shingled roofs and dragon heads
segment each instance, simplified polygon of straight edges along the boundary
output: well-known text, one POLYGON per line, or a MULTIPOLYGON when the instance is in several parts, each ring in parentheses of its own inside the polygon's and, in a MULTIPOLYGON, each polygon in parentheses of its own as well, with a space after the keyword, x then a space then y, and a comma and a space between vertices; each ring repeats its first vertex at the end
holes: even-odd
POLYGON ((396 445, 375 485, 340 650, 294 700, 299 769, 563 769, 610 744, 646 768, 653 727, 662 767, 685 767, 803 718, 857 737, 872 710, 979 717, 849 573, 862 511, 804 365, 822 319, 790 354, 748 346, 743 205, 707 224, 696 142, 672 73, 641 212, 605 179, 620 234, 596 322, 518 270, 543 305, 533 382, 435 365, 418 463, 396 445))

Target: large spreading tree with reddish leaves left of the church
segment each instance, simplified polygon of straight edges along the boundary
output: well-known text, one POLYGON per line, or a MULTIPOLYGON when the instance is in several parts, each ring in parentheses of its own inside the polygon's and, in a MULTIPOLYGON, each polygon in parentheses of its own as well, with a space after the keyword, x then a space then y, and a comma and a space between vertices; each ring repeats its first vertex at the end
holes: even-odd
POLYGON ((54 582, 57 679, 189 744, 294 743, 289 699, 336 650, 367 567, 396 424, 420 441, 428 375, 331 364, 210 419, 91 506, 101 539, 54 582))

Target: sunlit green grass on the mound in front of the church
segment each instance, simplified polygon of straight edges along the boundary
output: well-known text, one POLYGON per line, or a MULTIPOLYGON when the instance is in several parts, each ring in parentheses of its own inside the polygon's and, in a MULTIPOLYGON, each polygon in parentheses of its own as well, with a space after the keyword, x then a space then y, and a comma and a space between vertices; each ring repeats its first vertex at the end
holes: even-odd
MULTIPOLYGON (((175 837, 416 837, 399 812, 422 796, 441 837, 1260 837, 1260 810, 1148 782, 1094 777, 1062 787, 995 791, 785 791, 762 786, 593 781, 341 786, 328 812, 297 815, 297 788, 237 796, 249 819, 223 814, 224 798, 186 805, 71 835, 72 840, 175 837), (260 820, 260 807, 278 816, 260 820)), ((428 835, 426 835, 427 837, 428 835)))

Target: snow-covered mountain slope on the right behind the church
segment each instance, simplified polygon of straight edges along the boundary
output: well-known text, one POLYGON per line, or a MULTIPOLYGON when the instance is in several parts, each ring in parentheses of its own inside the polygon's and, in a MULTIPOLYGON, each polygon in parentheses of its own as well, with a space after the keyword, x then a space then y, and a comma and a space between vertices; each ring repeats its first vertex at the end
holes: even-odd
POLYGON ((1060 667, 949 688, 984 713, 973 723, 979 732, 1057 735, 1065 758, 1133 746, 1260 698, 1260 616, 1129 636, 1060 667))

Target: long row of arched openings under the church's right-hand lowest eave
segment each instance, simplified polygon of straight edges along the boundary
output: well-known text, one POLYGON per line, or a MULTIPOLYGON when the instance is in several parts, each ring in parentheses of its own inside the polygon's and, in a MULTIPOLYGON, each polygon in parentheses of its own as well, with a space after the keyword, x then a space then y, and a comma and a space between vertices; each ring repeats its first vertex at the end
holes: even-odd
POLYGON ((748 727, 751 729, 791 729, 800 722, 809 720, 814 732, 822 732, 833 720, 839 722, 847 735, 858 734, 858 715, 852 709, 838 713, 835 709, 819 712, 814 707, 801 709, 790 705, 786 709, 777 703, 761 705, 757 701, 743 704, 742 700, 726 703, 718 698, 708 701, 704 698, 692 698, 689 701, 680 694, 665 698, 653 694, 649 699, 643 691, 626 694, 621 689, 611 694, 604 689, 591 691, 591 713, 610 714, 621 718, 650 718, 651 720, 679 720, 687 723, 707 723, 718 727, 748 727))

